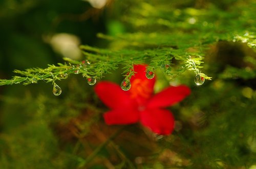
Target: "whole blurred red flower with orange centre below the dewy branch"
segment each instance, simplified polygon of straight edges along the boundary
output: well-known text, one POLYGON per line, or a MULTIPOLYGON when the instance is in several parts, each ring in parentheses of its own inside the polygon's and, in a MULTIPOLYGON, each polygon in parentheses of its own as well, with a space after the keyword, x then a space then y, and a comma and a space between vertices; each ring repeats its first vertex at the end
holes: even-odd
POLYGON ((115 83, 102 81, 95 87, 95 92, 105 105, 111 108, 106 112, 106 124, 132 124, 140 122, 157 134, 170 134, 174 129, 172 113, 163 109, 183 100, 190 94, 186 86, 168 87, 153 95, 155 77, 147 79, 145 65, 134 66, 135 76, 131 78, 132 87, 123 91, 115 83))

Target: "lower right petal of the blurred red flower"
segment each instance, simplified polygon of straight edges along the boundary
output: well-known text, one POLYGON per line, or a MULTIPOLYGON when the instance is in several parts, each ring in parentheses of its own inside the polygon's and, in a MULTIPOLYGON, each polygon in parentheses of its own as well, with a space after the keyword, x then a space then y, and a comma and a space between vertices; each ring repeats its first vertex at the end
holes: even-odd
POLYGON ((146 109, 141 111, 140 121, 157 134, 167 135, 174 130, 174 117, 169 110, 146 109))

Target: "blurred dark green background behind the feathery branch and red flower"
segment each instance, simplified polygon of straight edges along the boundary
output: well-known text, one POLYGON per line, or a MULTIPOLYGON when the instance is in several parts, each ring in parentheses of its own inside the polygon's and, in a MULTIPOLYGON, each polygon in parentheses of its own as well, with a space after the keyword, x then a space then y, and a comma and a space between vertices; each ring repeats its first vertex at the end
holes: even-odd
MULTIPOLYGON (((62 57, 82 60, 81 44, 120 47, 98 39, 97 33, 167 32, 164 26, 123 21, 140 3, 178 11, 213 7, 215 12, 240 5, 255 9, 252 2, 2 0, 0 78, 11 78, 15 69, 63 63, 62 57)), ((175 19, 178 24, 183 18, 175 19)), ((80 75, 58 83, 59 97, 44 82, 1 86, 0 168, 256 168, 255 49, 223 41, 209 45, 205 53, 204 72, 211 81, 197 87, 191 72, 170 80, 189 86, 192 94, 170 108, 177 126, 163 138, 139 124, 124 129, 105 125, 102 113, 108 108, 80 75)), ((157 76, 157 89, 168 86, 166 76, 157 76)), ((104 79, 120 83, 121 70, 104 79)))

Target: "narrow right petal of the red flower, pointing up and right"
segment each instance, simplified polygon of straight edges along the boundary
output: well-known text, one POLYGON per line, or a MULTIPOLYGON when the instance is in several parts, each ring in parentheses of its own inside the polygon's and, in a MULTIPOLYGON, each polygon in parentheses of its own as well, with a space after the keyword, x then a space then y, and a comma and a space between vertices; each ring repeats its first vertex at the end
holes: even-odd
POLYGON ((153 96, 150 101, 148 101, 147 107, 166 107, 173 105, 190 94, 190 89, 184 85, 178 87, 168 87, 162 92, 153 96))

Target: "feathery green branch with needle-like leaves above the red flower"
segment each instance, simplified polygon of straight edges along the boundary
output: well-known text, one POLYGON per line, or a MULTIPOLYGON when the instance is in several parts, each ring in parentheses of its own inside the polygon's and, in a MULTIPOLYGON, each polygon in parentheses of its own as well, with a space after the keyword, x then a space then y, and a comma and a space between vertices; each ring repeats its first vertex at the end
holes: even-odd
MULTIPOLYGON (((114 41, 114 46, 118 44, 118 50, 81 46, 81 49, 84 50, 83 54, 92 62, 90 67, 84 68, 81 62, 66 59, 68 64, 65 65, 48 65, 49 67, 46 69, 16 70, 15 73, 25 77, 14 76, 11 80, 1 80, 0 85, 13 85, 20 82, 28 85, 36 83, 38 80, 52 82, 61 80, 62 78, 58 77, 61 74, 68 76, 72 73, 82 73, 83 77, 102 78, 110 70, 116 70, 117 66, 124 67, 124 74, 130 72, 130 78, 134 74, 132 70, 134 64, 153 60, 148 64, 150 64, 151 69, 158 69, 164 63, 171 64, 173 58, 182 62, 175 63, 178 68, 169 73, 171 76, 175 77, 185 70, 193 70, 199 74, 199 68, 202 68, 200 66, 203 60, 202 56, 209 44, 214 44, 220 40, 241 41, 250 47, 255 47, 253 32, 255 22, 250 18, 250 15, 243 11, 245 5, 247 4, 242 4, 242 8, 235 6, 230 11, 223 11, 212 5, 205 9, 176 9, 175 6, 173 9, 166 9, 162 3, 156 5, 137 2, 136 7, 129 11, 130 14, 125 15, 122 19, 144 33, 127 33, 116 37, 99 34, 101 38, 114 41), (245 14, 241 17, 238 13, 245 14), (154 31, 159 29, 163 33, 154 31), (190 57, 196 59, 192 60, 190 57)), ((246 8, 246 11, 252 13, 252 7, 255 4, 252 3, 250 6, 250 8, 246 8)), ((201 75, 205 79, 210 79, 203 73, 201 75)))

